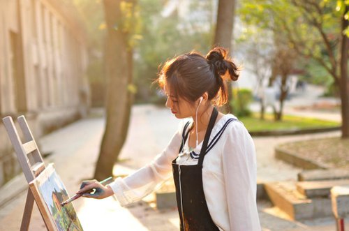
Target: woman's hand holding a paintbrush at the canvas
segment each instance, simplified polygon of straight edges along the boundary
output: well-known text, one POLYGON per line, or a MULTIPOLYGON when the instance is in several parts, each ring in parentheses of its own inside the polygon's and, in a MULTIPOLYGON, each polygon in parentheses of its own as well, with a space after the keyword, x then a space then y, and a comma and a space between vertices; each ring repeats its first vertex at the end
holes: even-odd
POLYGON ((103 199, 110 197, 114 194, 110 186, 103 186, 103 184, 98 181, 82 181, 80 190, 76 194, 82 193, 84 198, 94 198, 94 199, 103 199))

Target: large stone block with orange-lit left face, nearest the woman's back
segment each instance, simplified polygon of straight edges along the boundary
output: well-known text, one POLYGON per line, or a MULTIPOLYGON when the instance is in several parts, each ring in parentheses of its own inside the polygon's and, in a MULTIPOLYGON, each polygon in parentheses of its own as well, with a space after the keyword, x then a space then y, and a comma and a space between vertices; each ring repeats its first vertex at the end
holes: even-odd
POLYGON ((332 216, 329 198, 306 198, 297 191, 295 182, 270 182, 265 184, 265 191, 274 206, 283 210, 292 220, 332 216))

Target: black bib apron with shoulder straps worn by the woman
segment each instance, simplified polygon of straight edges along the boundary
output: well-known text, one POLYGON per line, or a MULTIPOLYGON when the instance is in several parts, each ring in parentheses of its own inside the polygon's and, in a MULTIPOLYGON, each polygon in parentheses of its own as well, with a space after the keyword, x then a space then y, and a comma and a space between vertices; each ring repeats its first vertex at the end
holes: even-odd
MULTIPOLYGON (((209 126, 205 134, 204 142, 202 143, 198 165, 177 165, 177 158, 172 161, 181 230, 219 230, 209 214, 202 186, 202 163, 205 158, 207 143, 209 142, 209 136, 211 135, 217 115, 218 112, 216 108, 214 108, 211 118, 209 119, 209 126)), ((184 128, 184 132, 185 130, 186 127, 184 128)), ((183 136, 184 140, 182 141, 181 149, 186 142, 188 133, 183 136)), ((181 152, 181 150, 179 152, 181 152)))

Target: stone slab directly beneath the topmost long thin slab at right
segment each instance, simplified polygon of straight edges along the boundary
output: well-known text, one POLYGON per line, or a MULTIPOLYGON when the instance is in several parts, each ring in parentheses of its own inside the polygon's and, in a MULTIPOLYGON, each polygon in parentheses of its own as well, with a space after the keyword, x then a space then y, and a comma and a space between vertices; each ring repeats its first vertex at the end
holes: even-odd
POLYGON ((330 190, 334 186, 349 185, 349 179, 333 181, 301 181, 297 184, 297 191, 306 198, 329 197, 330 190))

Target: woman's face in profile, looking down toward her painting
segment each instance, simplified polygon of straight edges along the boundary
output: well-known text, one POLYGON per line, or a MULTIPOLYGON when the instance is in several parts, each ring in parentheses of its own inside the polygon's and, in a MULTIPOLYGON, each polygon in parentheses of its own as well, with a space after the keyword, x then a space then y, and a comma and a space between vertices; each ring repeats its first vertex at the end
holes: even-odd
POLYGON ((193 117, 195 115, 195 110, 193 109, 193 105, 191 103, 184 100, 184 98, 176 98, 170 94, 170 86, 169 84, 165 85, 165 94, 168 97, 166 100, 166 107, 170 108, 172 114, 177 119, 183 119, 187 117, 193 117))

